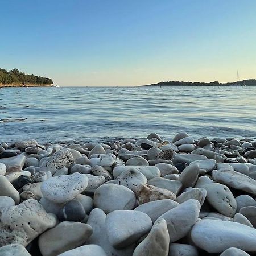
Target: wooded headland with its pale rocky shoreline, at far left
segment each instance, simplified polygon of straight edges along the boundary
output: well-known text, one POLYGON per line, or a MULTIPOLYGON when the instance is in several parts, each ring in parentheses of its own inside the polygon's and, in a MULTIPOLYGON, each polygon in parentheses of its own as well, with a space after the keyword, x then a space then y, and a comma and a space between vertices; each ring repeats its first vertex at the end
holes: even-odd
POLYGON ((26 75, 19 69, 11 69, 7 71, 0 68, 0 88, 1 87, 37 87, 37 86, 53 86, 53 81, 48 77, 26 75))

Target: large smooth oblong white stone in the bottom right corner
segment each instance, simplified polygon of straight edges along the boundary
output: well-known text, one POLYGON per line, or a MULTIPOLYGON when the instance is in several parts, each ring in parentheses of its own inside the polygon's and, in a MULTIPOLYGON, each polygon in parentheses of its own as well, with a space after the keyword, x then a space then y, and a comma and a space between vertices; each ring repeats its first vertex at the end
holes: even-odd
POLYGON ((193 226, 191 238, 208 253, 222 253, 230 247, 256 251, 256 230, 237 222, 201 220, 193 226))

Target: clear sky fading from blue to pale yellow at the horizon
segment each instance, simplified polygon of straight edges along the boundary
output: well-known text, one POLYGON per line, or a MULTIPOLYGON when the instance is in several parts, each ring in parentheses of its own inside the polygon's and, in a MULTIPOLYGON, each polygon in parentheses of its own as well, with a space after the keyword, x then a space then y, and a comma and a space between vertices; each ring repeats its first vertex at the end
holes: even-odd
POLYGON ((256 79, 255 0, 0 0, 0 68, 60 86, 256 79))

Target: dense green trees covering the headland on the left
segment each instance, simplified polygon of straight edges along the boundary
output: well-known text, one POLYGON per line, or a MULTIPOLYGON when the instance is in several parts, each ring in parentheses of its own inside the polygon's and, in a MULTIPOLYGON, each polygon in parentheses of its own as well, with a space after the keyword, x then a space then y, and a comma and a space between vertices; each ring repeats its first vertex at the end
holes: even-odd
POLYGON ((26 75, 16 68, 11 71, 0 68, 0 84, 53 84, 53 81, 48 77, 26 75))

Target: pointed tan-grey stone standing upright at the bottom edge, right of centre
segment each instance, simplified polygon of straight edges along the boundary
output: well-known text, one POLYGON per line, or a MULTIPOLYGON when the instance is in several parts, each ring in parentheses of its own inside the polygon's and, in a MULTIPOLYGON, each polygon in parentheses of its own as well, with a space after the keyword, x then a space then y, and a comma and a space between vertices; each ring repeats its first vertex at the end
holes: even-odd
POLYGON ((168 256, 169 234, 166 220, 159 219, 154 223, 147 237, 139 243, 134 250, 133 256, 168 256))

